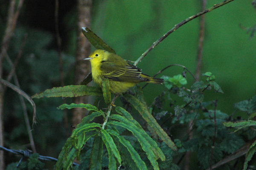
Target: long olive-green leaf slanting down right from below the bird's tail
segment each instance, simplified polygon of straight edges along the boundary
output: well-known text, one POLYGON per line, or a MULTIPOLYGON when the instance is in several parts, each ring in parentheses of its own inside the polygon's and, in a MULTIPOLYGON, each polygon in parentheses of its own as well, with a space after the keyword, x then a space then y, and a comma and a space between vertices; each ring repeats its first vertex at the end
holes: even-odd
POLYGON ((173 150, 177 150, 177 147, 175 146, 174 142, 171 140, 171 138, 166 134, 166 132, 160 127, 160 125, 157 123, 157 121, 154 119, 154 117, 148 112, 148 109, 144 107, 144 105, 134 96, 124 94, 124 97, 134 106, 135 109, 140 112, 140 115, 144 118, 144 120, 148 123, 149 126, 151 126, 157 135, 173 150))

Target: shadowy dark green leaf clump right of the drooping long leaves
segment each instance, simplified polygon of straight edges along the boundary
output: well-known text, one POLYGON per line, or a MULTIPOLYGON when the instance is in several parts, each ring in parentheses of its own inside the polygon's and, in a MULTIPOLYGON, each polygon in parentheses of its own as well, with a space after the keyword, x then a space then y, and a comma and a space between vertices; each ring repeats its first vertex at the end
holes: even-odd
POLYGON ((229 133, 223 126, 222 122, 226 122, 229 118, 227 114, 219 110, 209 110, 204 112, 203 116, 204 118, 195 121, 194 137, 183 144, 186 150, 197 150, 201 166, 208 168, 211 156, 212 163, 216 163, 238 150, 245 142, 241 136, 229 133))

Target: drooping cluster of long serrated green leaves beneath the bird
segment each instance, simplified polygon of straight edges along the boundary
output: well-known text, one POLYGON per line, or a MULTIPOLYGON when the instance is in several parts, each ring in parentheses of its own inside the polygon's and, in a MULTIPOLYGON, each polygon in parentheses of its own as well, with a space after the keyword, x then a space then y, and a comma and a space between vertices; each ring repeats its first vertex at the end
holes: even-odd
MULTIPOLYGON (((102 81, 102 94, 105 102, 109 104, 108 112, 103 112, 90 104, 63 104, 58 107, 58 109, 72 109, 79 107, 86 108, 87 110, 93 110, 94 112, 84 117, 76 129, 73 130, 72 135, 67 139, 66 144, 59 154, 55 170, 59 170, 61 168, 67 170, 72 166, 75 158, 77 158, 77 160, 81 160, 81 150, 90 138, 94 138, 94 141, 90 154, 90 163, 87 164, 87 168, 101 169, 102 160, 104 158, 103 146, 105 146, 108 151, 108 168, 110 170, 116 170, 122 165, 122 161, 126 161, 126 163, 133 169, 148 169, 145 161, 143 161, 131 143, 120 135, 118 127, 122 127, 125 130, 130 131, 134 137, 137 138, 140 147, 146 153, 146 158, 150 161, 150 165, 154 170, 159 170, 157 159, 160 158, 161 161, 166 160, 162 150, 157 146, 156 141, 154 141, 145 132, 129 112, 122 107, 115 107, 117 114, 113 114, 113 106, 110 104, 111 95, 109 90, 108 79, 105 79, 102 81), (103 124, 92 122, 94 118, 99 116, 103 117, 103 124)), ((124 97, 142 115, 148 123, 148 126, 151 127, 150 130, 152 133, 157 134, 168 147, 172 148, 172 150, 177 150, 177 147, 171 138, 164 132, 154 117, 149 113, 147 105, 143 99, 143 92, 140 86, 135 86, 135 92, 135 96, 137 98, 129 94, 124 94, 124 97)), ((58 95, 58 93, 59 91, 56 94, 58 95)))

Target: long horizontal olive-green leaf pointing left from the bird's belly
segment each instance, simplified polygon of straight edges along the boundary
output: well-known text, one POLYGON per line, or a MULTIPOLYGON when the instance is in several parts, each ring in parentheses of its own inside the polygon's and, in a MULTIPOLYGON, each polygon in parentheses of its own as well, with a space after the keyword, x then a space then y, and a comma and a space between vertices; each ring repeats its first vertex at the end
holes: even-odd
POLYGON ((78 97, 84 95, 102 95, 100 87, 92 87, 85 85, 70 85, 63 87, 53 87, 44 92, 32 95, 31 98, 57 98, 57 97, 78 97))

